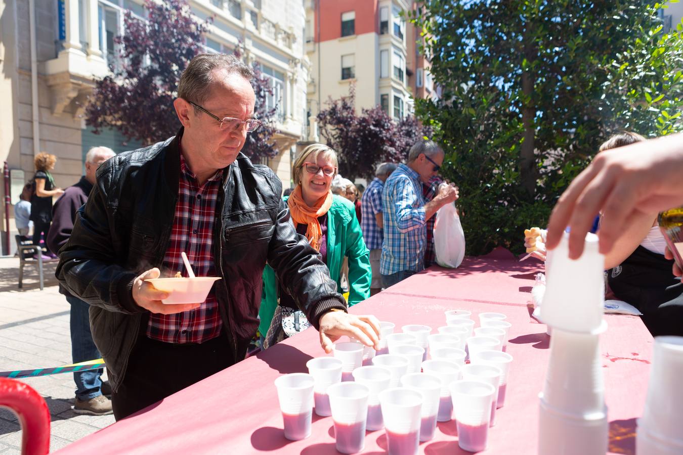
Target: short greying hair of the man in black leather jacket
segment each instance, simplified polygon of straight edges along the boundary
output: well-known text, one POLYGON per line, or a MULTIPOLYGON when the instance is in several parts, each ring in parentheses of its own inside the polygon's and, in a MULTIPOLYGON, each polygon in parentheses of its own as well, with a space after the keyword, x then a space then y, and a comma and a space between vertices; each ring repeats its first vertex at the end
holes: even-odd
POLYGON ((214 70, 225 70, 227 74, 239 74, 251 80, 254 72, 249 66, 232 54, 199 54, 193 58, 180 76, 178 98, 196 104, 204 104, 211 85, 216 78, 214 70))

